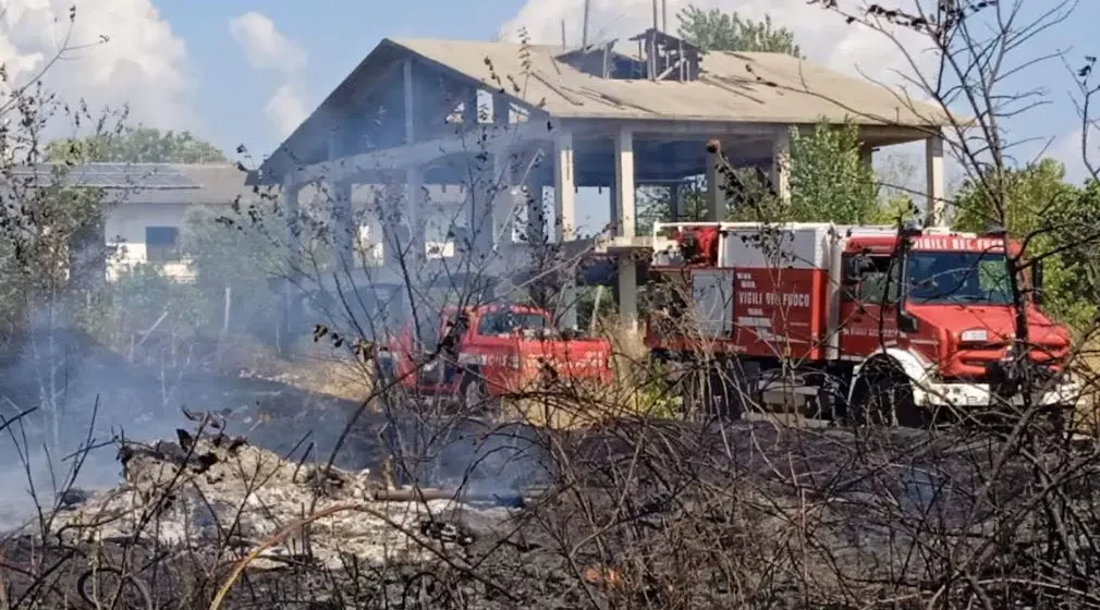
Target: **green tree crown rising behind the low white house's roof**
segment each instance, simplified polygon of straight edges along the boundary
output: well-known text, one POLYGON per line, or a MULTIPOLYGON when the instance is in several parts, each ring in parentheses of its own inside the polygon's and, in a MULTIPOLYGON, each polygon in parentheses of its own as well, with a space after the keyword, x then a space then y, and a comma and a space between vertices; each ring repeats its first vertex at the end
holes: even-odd
POLYGON ((69 163, 228 163, 213 144, 187 131, 138 127, 120 133, 55 140, 46 145, 46 159, 69 163))

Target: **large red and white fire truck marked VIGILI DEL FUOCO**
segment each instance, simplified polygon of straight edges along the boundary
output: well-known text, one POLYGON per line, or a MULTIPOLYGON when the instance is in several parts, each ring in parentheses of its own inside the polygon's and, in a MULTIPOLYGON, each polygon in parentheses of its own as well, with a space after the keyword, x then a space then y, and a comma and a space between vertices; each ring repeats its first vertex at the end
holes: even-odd
POLYGON ((648 292, 663 296, 646 342, 705 371, 704 400, 733 416, 751 404, 923 426, 1005 405, 1062 413, 1077 395, 1069 333, 1040 307, 1042 265, 1014 265, 1027 272, 1013 290, 1020 246, 1003 231, 674 222, 653 248, 648 292), (1034 297, 1022 315, 1020 291, 1034 297))

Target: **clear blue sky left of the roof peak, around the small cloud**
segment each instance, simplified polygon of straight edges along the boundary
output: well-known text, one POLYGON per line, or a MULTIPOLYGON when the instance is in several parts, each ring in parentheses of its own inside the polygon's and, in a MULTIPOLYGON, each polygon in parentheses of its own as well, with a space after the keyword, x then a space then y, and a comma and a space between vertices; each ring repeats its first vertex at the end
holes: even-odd
POLYGON ((304 47, 308 64, 301 89, 306 107, 312 110, 383 37, 487 40, 522 1, 477 4, 477 10, 455 10, 451 0, 156 2, 175 33, 188 41, 199 68, 198 109, 208 123, 205 134, 227 150, 245 142, 261 154, 278 143, 262 110, 279 79, 250 67, 230 33, 232 18, 260 11, 304 47))

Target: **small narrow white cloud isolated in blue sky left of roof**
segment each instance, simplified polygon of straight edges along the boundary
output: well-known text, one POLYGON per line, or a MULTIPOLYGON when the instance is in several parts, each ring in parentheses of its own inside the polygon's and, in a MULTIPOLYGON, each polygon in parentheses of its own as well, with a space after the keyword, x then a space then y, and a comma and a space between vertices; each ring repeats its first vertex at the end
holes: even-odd
POLYGON ((297 77, 306 68, 306 52, 284 36, 267 15, 255 11, 229 20, 229 31, 252 67, 279 75, 279 86, 264 112, 278 137, 286 138, 309 116, 296 85, 297 77))

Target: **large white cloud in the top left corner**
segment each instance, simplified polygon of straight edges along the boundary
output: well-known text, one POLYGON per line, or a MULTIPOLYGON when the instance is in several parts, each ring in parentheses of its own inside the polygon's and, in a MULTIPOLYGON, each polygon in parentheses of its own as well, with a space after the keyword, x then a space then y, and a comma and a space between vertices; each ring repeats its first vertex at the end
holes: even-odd
POLYGON ((0 12, 0 63, 19 84, 50 66, 46 87, 64 101, 92 109, 130 105, 130 121, 195 129, 195 79, 187 45, 150 0, 12 0, 0 12), (106 42, 103 42, 106 41, 106 42))

